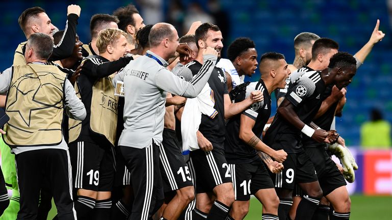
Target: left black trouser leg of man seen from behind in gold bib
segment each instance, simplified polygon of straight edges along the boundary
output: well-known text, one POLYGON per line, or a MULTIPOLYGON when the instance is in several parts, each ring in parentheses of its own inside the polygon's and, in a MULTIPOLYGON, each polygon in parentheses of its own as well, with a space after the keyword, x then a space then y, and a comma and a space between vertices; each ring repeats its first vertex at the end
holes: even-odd
POLYGON ((36 219, 41 180, 44 167, 43 150, 27 151, 15 156, 20 193, 20 210, 17 219, 36 219))

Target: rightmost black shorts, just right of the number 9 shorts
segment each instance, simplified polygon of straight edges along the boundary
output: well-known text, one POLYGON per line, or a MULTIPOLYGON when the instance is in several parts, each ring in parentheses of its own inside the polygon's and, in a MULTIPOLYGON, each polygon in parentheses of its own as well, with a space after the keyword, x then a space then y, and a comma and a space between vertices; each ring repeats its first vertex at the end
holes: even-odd
POLYGON ((305 152, 313 162, 324 196, 340 186, 347 185, 345 178, 337 169, 336 163, 325 151, 324 144, 317 145, 317 147, 306 147, 305 152))

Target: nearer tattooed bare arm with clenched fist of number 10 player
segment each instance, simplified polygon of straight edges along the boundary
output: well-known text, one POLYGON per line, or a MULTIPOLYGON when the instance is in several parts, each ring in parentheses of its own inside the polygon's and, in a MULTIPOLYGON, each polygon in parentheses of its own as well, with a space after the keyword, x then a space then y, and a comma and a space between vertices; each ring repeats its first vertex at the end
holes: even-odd
POLYGON ((256 121, 250 117, 242 114, 241 122, 239 126, 239 138, 247 143, 249 146, 255 148, 258 151, 262 151, 267 155, 273 157, 278 162, 283 162, 286 159, 287 153, 284 150, 274 150, 264 144, 259 137, 253 133, 252 128, 256 121))

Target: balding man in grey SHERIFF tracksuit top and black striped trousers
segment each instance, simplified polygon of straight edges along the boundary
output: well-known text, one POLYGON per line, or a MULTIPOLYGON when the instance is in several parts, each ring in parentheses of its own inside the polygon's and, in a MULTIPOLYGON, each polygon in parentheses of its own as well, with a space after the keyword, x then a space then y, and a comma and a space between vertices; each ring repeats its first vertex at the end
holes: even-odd
POLYGON ((186 82, 165 68, 179 46, 174 26, 155 24, 149 41, 146 56, 130 62, 113 79, 113 84, 124 80, 125 87, 125 128, 118 145, 131 173, 135 196, 129 219, 149 219, 162 205, 162 178, 154 164, 159 163, 166 91, 183 97, 197 96, 217 56, 212 48, 204 50, 204 68, 192 81, 186 82))

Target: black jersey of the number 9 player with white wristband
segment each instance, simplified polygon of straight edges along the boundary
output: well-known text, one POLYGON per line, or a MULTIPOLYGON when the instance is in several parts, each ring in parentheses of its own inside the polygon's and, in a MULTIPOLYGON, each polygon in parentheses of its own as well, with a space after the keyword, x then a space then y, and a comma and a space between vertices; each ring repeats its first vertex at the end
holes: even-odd
MULTIPOLYGON (((288 88, 285 99, 294 105, 294 111, 300 120, 309 125, 320 109, 326 85, 319 71, 303 67, 298 72, 301 76, 297 79, 291 79, 292 85, 288 88)), ((274 142, 279 139, 288 140, 290 143, 284 146, 287 153, 297 153, 303 150, 301 130, 278 113, 265 133, 264 142, 268 146, 274 146, 274 142)))

